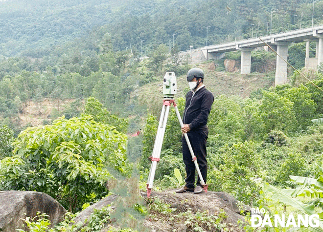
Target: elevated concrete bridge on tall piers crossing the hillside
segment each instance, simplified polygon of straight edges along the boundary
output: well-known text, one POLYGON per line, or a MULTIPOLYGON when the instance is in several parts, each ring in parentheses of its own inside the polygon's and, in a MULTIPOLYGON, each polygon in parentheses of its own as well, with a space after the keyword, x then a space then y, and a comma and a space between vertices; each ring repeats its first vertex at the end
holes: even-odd
MULTIPOLYGON (((306 42, 305 67, 316 69, 317 65, 323 63, 323 25, 287 31, 268 36, 260 37, 271 47, 277 48, 277 53, 287 61, 288 46, 293 43, 306 42), (316 56, 309 57, 310 42, 316 42, 316 56)), ((241 41, 227 42, 216 45, 209 45, 200 49, 181 52, 181 55, 189 54, 193 63, 202 60, 218 60, 224 58, 225 52, 241 51, 240 72, 248 74, 251 72, 251 52, 257 47, 265 44, 259 38, 246 39, 241 41), (195 61, 195 62, 194 62, 195 61)), ((287 63, 278 55, 276 61, 275 84, 287 83, 287 63)))

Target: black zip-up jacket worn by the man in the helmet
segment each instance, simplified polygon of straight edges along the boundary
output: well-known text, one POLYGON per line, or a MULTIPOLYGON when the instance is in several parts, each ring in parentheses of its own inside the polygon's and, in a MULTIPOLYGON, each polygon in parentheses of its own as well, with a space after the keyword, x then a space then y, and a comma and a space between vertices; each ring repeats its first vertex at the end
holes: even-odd
POLYGON ((188 91, 183 123, 188 124, 191 130, 206 128, 213 101, 213 94, 205 86, 195 93, 188 91))

